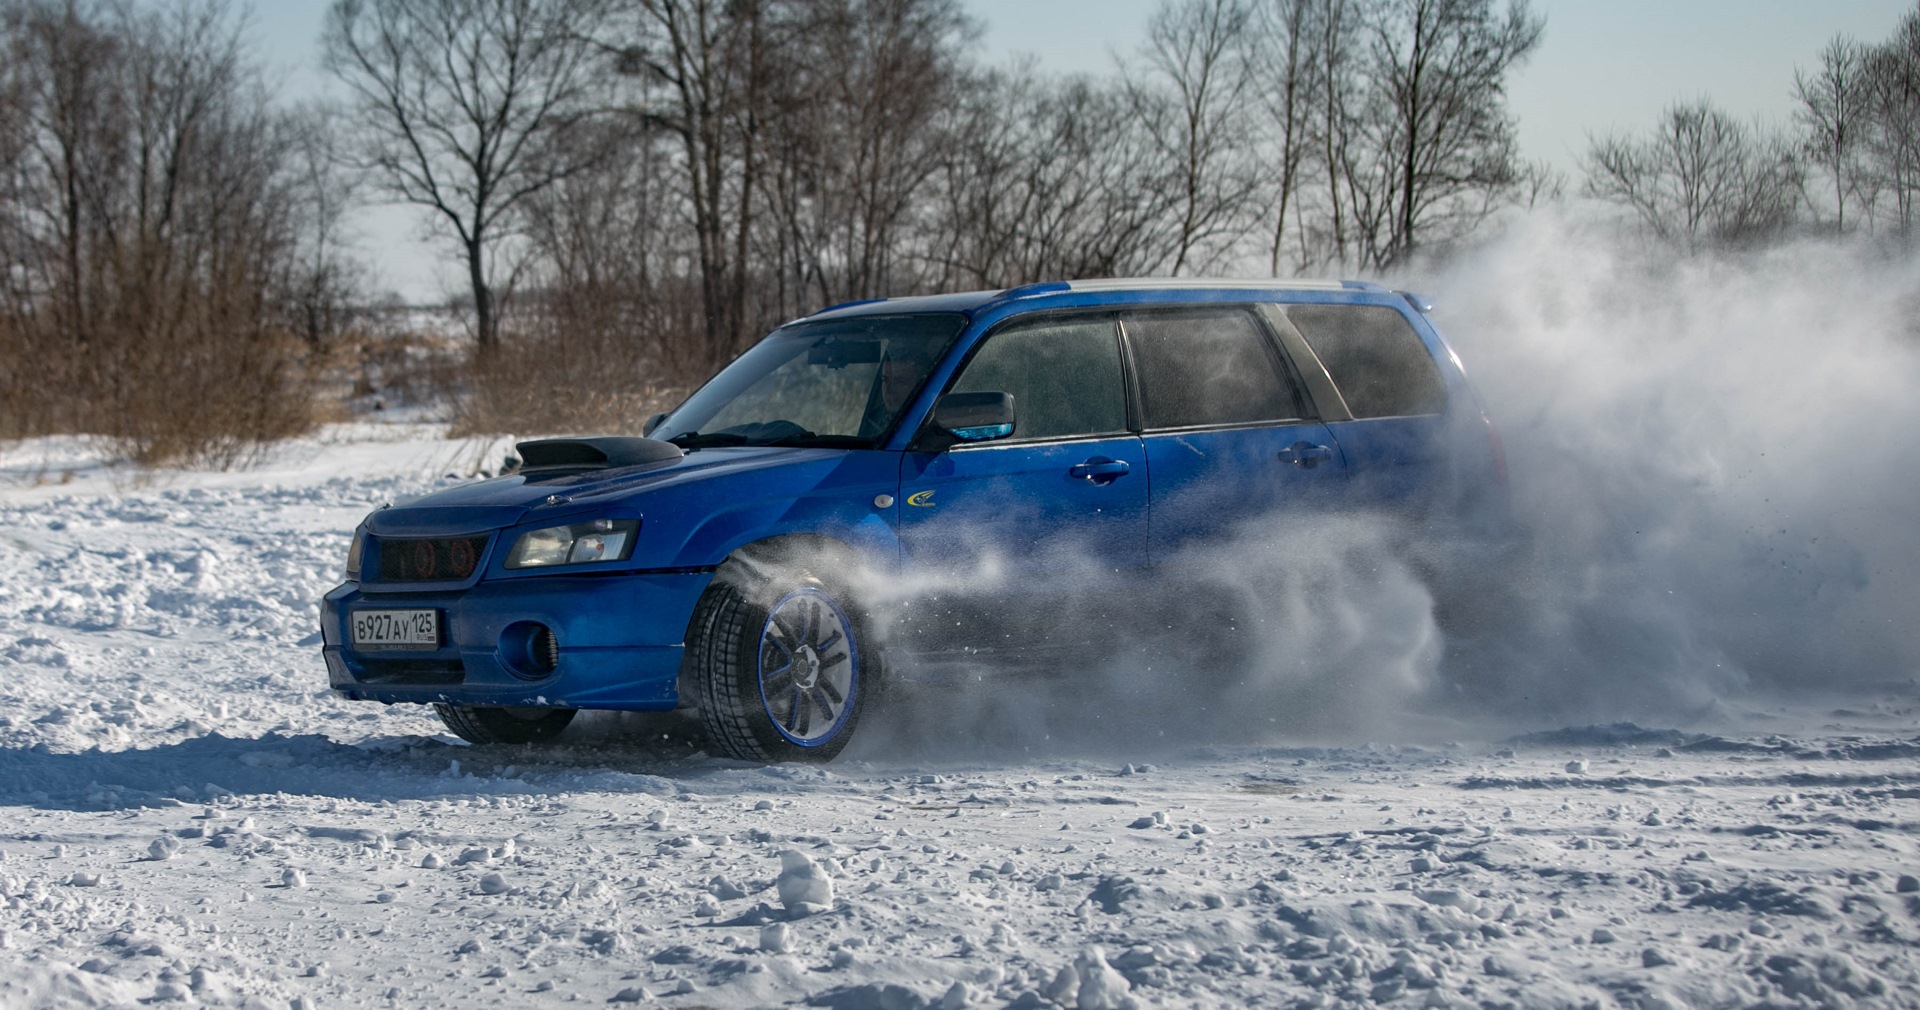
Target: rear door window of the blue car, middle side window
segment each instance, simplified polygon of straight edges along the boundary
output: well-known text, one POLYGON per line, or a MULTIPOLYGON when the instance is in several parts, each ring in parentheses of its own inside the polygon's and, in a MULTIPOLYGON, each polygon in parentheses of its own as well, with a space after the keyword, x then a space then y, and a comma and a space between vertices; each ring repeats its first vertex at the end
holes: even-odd
POLYGON ((1267 334, 1244 309, 1125 317, 1148 428, 1252 424, 1302 415, 1267 334))

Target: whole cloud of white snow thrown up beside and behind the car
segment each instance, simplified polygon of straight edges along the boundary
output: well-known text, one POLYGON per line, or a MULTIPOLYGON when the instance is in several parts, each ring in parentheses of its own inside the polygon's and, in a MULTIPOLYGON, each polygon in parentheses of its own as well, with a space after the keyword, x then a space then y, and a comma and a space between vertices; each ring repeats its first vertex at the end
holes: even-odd
POLYGON ((1920 263, 1811 240, 1661 259, 1540 217, 1425 284, 1503 438, 1521 547, 1440 559, 1392 520, 1283 513, 1117 609, 1083 591, 1098 565, 1058 561, 1039 616, 1102 647, 962 664, 856 747, 1697 728, 1757 695, 1912 682, 1920 263))

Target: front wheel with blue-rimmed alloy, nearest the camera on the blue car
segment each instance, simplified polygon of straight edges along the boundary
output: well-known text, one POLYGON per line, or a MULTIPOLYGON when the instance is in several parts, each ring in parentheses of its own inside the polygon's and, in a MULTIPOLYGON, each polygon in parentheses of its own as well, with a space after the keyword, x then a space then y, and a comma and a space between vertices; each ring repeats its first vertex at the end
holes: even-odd
POLYGON ((876 670, 860 609, 804 568, 722 568, 687 632, 701 722, 718 753, 741 760, 831 760, 876 670))

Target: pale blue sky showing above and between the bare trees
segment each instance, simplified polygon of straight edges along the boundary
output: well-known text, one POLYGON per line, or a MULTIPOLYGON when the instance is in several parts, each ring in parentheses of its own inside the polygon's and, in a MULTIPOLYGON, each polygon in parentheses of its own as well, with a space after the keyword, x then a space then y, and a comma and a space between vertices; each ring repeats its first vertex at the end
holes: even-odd
MULTIPOLYGON (((1131 54, 1160 0, 966 0, 985 23, 989 60, 1033 54, 1043 67, 1104 73, 1131 54)), ((1640 131, 1684 98, 1709 96, 1743 115, 1786 123, 1793 67, 1812 67, 1834 35, 1882 40, 1916 0, 1534 0, 1546 40, 1511 81, 1521 148, 1571 173, 1586 136, 1640 131)), ((319 31, 328 0, 259 0, 255 36, 286 96, 326 86, 319 31)), ((449 269, 411 240, 411 211, 361 227, 388 284, 436 298, 449 269)))

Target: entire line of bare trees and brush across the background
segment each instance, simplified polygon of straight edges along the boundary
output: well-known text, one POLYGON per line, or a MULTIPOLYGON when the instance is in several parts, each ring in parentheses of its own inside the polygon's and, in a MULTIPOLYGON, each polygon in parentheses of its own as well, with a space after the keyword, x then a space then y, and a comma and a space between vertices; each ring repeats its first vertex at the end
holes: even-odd
MULTIPOLYGON (((962 0, 334 0, 330 106, 227 0, 0 0, 0 436, 230 461, 365 334, 357 205, 424 211, 461 422, 630 428, 828 303, 1125 275, 1382 275, 1561 196, 1507 86, 1526 0, 1162 0, 1104 75, 979 58, 962 0)), ((1678 104, 1582 192, 1680 248, 1905 238, 1920 8, 1678 104)))

